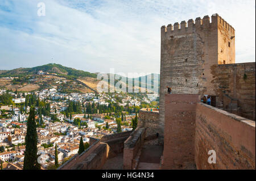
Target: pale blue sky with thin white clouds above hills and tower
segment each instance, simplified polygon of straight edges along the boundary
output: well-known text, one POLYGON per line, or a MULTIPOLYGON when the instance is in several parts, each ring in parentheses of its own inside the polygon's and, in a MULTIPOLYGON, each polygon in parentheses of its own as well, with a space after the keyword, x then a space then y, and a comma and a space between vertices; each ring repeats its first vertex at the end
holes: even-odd
POLYGON ((0 70, 54 62, 159 73, 160 27, 216 12, 236 30, 236 62, 255 61, 254 0, 0 0, 0 70))

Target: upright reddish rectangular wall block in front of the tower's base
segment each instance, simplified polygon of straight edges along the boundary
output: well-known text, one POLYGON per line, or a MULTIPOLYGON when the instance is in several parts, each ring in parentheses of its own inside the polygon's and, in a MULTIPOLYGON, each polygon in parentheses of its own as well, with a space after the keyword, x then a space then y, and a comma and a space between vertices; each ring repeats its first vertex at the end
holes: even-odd
POLYGON ((162 169, 195 169, 197 94, 166 94, 162 169))

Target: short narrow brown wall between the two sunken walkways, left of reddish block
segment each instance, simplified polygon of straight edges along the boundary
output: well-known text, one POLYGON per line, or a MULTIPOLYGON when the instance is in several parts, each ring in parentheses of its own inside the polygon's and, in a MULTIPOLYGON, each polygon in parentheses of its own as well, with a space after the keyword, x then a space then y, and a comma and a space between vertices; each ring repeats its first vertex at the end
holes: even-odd
POLYGON ((125 141, 125 148, 123 149, 123 169, 133 169, 135 163, 134 158, 144 144, 145 135, 146 129, 137 127, 125 141))

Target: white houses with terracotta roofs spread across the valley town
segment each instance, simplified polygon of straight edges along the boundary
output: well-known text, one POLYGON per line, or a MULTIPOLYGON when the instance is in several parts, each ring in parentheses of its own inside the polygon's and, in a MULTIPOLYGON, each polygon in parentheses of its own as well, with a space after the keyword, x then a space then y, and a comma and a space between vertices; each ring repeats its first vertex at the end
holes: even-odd
MULTIPOLYGON (((4 94, 6 90, 0 90, 0 95, 4 94)), ((9 92, 9 94, 16 96, 13 99, 14 103, 23 103, 25 98, 18 98, 18 95, 14 92, 9 92)), ((30 92, 25 92, 25 95, 30 94, 30 92)), ((42 151, 42 156, 40 156, 40 163, 42 166, 47 168, 50 164, 55 161, 55 144, 57 145, 57 154, 59 162, 63 162, 64 158, 70 158, 77 154, 79 150, 80 138, 84 142, 89 142, 89 137, 101 137, 107 134, 113 134, 117 131, 117 123, 115 118, 104 119, 104 114, 96 113, 92 114, 92 119, 84 118, 85 114, 72 114, 72 117, 66 117, 61 111, 65 111, 68 108, 68 100, 75 102, 90 102, 105 104, 108 106, 107 100, 115 102, 114 97, 106 95, 104 93, 97 95, 94 93, 88 94, 60 94, 56 89, 44 89, 41 91, 36 91, 35 94, 42 100, 46 100, 50 103, 50 113, 55 114, 60 120, 57 122, 51 121, 50 116, 42 115, 42 121, 44 123, 43 128, 37 128, 38 132, 38 150, 42 151), (59 99, 56 101, 56 99, 59 99), (81 127, 73 125, 73 121, 79 118, 81 123, 87 123, 85 126, 81 124, 81 127), (98 129, 96 124, 104 127, 108 123, 109 129, 98 129)), ((130 96, 123 96, 122 102, 119 104, 128 103, 131 106, 138 106, 140 102, 136 99, 131 99, 130 96)), ((30 107, 26 108, 27 111, 30 107)), ((19 107, 13 106, 0 106, 0 115, 5 115, 5 118, 0 118, 0 147, 4 150, 0 151, 0 159, 5 162, 10 162, 15 166, 22 165, 24 159, 24 151, 26 150, 25 137, 27 129, 27 114, 20 113, 19 107), (7 116, 6 116, 7 115, 7 116), (14 146, 15 145, 15 146, 14 146)), ((88 115, 86 117, 89 117, 88 115)), ((131 122, 131 117, 134 115, 127 115, 126 120, 131 122)), ((36 119, 39 115, 36 115, 36 119)), ((40 120, 41 121, 41 120, 40 120)), ((130 123, 129 122, 129 123, 130 123)), ((122 131, 130 131, 131 126, 122 125, 122 131)))

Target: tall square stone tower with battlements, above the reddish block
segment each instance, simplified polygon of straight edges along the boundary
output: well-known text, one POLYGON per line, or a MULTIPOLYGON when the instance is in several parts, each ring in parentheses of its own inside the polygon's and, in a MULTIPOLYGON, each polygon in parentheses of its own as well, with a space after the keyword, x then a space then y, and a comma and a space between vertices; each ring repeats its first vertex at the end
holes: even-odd
POLYGON ((166 86, 174 94, 214 95, 212 66, 235 62, 234 28, 218 14, 211 18, 161 27, 160 123, 164 123, 166 86))

